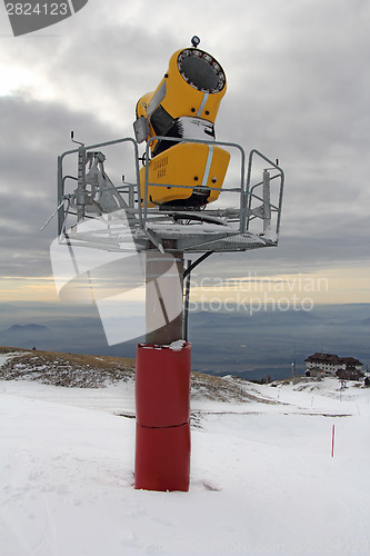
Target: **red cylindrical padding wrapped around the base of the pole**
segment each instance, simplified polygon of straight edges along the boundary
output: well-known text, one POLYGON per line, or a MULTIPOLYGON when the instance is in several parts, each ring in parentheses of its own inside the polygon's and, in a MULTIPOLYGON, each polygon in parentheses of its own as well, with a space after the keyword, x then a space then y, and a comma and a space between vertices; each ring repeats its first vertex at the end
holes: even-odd
POLYGON ((138 346, 136 488, 189 490, 190 353, 138 346))

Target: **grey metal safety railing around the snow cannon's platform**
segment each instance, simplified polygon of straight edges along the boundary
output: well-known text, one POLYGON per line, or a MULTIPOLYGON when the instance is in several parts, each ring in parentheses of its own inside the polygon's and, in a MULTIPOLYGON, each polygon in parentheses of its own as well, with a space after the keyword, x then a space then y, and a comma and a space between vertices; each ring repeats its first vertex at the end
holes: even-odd
MULTIPOLYGON (((83 198, 86 193, 89 193, 87 190, 86 182, 86 165, 87 165, 87 156, 88 151, 93 151, 103 147, 111 147, 120 143, 130 143, 133 147, 133 158, 134 158, 134 180, 132 183, 123 183, 121 187, 114 187, 116 191, 120 195, 126 192, 128 193, 128 202, 124 202, 124 209, 134 218, 134 225, 139 230, 142 230, 150 239, 150 231, 148 230, 148 224, 161 220, 163 216, 166 216, 166 211, 160 212, 158 207, 150 208, 149 207, 149 188, 152 187, 176 187, 193 190, 194 185, 173 185, 173 183, 157 183, 149 181, 149 162, 150 162, 150 147, 153 141, 162 141, 167 142, 188 142, 188 143, 198 143, 198 145, 209 145, 209 146, 219 146, 229 150, 237 150, 240 153, 240 178, 237 187, 227 187, 223 185, 221 188, 212 188, 207 186, 207 191, 218 191, 221 195, 226 192, 232 192, 239 195, 239 202, 234 205, 232 209, 209 209, 207 207, 206 210, 202 211, 204 215, 224 215, 228 216, 228 211, 232 211, 234 221, 238 222, 238 229, 236 228, 237 234, 246 234, 250 232, 251 222, 260 218, 263 220, 263 232, 267 231, 271 224, 272 215, 277 215, 276 219, 276 234, 279 235, 280 230, 280 221, 281 221, 281 208, 282 208, 282 195, 283 195, 283 186, 284 186, 284 173, 280 168, 278 162, 273 162, 264 155, 262 155, 257 149, 253 149, 249 153, 248 158, 248 169, 246 175, 246 152, 244 149, 234 142, 227 141, 216 141, 216 140, 203 140, 203 139, 186 139, 186 138, 172 138, 166 136, 154 136, 151 137, 147 141, 146 146, 146 170, 144 170, 144 183, 143 183, 143 196, 142 196, 142 186, 140 185, 140 168, 139 161, 143 160, 143 158, 139 156, 139 149, 137 141, 129 137, 122 139, 116 139, 112 141, 106 141, 101 143, 94 143, 84 146, 83 143, 79 143, 80 147, 77 149, 71 149, 63 152, 60 157, 58 157, 58 232, 59 235, 66 228, 66 220, 69 214, 76 215, 78 219, 83 218, 84 209, 83 209, 83 198), (78 176, 63 175, 63 161, 66 157, 70 155, 78 155, 78 176), (269 168, 263 171, 263 179, 252 185, 252 167, 256 161, 256 158, 261 159, 267 162, 269 168), (273 176, 270 175, 270 170, 273 170, 276 173, 273 176), (68 179, 77 181, 77 189, 74 189, 72 195, 66 195, 66 181, 68 179), (278 181, 277 197, 276 202, 271 202, 271 185, 272 182, 278 181), (259 188, 262 191, 259 191, 259 188), (79 197, 80 196, 80 197, 79 197), (74 198, 77 210, 74 212, 71 210, 70 199, 74 198), (143 197, 143 198, 142 198, 143 197), (80 199, 80 201, 79 201, 80 199), (253 207, 254 202, 260 202, 259 207, 253 207), (239 205, 239 207, 238 207, 239 205)), ((197 186, 199 189, 200 186, 197 186)), ((169 212, 176 212, 169 210, 169 212)), ((180 210, 178 211, 180 214, 180 210)))

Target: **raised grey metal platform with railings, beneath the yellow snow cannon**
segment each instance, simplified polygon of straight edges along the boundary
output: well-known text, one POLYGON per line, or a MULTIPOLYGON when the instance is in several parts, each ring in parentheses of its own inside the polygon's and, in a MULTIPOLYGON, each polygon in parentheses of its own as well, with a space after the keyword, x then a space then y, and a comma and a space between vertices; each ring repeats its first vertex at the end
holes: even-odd
MULTIPOLYGON (((278 245, 284 183, 278 162, 256 149, 247 161, 239 145, 209 141, 239 158, 239 175, 233 172, 232 182, 227 176, 219 199, 203 209, 149 208, 149 187, 157 183, 148 182, 147 165, 143 191, 140 191, 140 161, 149 160, 150 142, 161 139, 164 138, 151 138, 142 157, 137 141, 123 138, 91 146, 79 143, 79 148, 58 158, 57 210, 61 242, 113 251, 140 252, 156 247, 161 252, 186 254, 247 251, 278 245), (134 176, 130 182, 123 180, 114 185, 106 173, 106 152, 113 146, 126 151, 131 149, 134 176), (76 172, 66 171, 66 166, 74 167, 76 172), (256 166, 262 168, 259 175, 256 175, 256 166)), ((166 140, 184 142, 168 137, 166 140)), ((208 143, 194 139, 186 142, 208 143)), ((124 172, 124 168, 120 171, 124 172)))

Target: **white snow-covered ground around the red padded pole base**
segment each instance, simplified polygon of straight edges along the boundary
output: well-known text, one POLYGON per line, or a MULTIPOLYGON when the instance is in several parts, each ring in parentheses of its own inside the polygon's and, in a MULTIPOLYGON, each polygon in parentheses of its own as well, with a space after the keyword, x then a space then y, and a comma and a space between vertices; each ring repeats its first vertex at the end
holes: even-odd
POLYGON ((339 386, 197 398, 190 492, 154 493, 132 486, 134 419, 117 415, 134 414, 132 381, 1 380, 0 554, 368 555, 370 389, 339 386))

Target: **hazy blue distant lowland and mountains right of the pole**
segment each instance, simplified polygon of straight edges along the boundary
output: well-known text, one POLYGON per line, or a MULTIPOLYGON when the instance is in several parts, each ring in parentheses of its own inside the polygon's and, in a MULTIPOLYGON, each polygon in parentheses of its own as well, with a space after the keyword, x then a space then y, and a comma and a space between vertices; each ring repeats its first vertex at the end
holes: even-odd
POLYGON ((312 311, 261 310, 190 314, 194 370, 229 373, 247 379, 297 374, 316 351, 370 363, 369 305, 317 306, 312 311))

